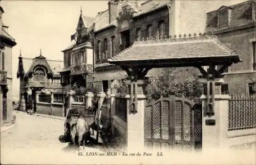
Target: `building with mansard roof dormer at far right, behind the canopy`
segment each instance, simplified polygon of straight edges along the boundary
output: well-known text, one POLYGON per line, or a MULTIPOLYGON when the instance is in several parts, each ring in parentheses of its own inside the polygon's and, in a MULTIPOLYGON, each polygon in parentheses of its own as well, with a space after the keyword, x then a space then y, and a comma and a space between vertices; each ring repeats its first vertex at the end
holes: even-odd
POLYGON ((255 1, 219 6, 216 9, 207 13, 207 33, 218 36, 242 60, 225 70, 224 89, 229 94, 255 95, 255 1))

